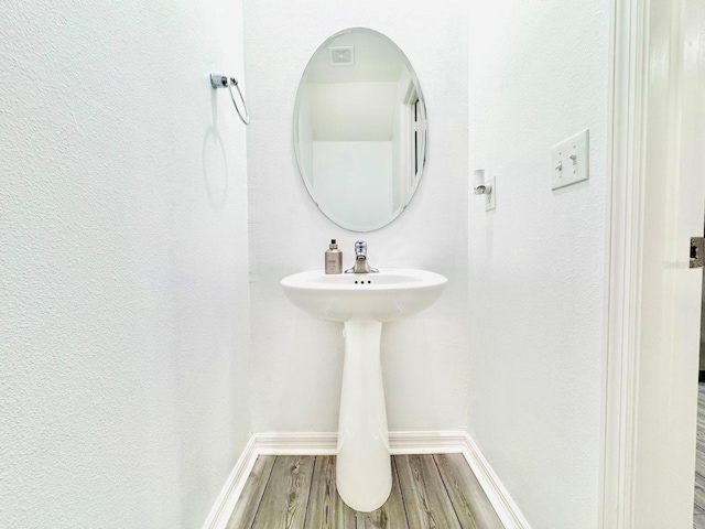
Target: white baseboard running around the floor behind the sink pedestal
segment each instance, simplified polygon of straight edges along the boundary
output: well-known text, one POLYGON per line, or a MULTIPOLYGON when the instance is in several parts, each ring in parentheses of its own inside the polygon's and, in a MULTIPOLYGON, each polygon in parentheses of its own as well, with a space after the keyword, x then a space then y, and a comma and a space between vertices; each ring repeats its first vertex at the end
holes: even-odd
MULTIPOLYGON (((337 432, 254 433, 242 450, 203 529, 225 529, 259 455, 334 455, 337 432)), ((497 474, 466 432, 390 432, 393 455, 462 453, 506 529, 531 529, 497 474)))

